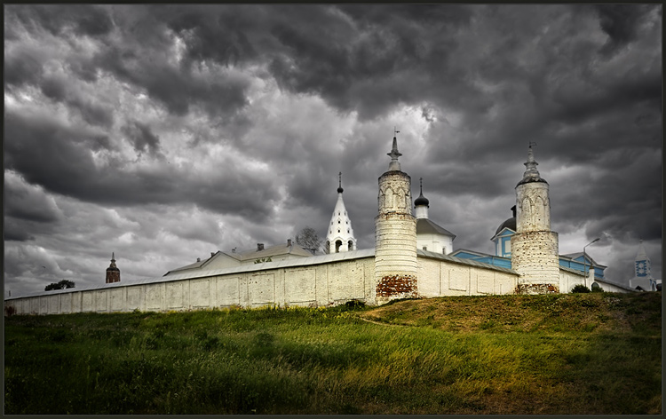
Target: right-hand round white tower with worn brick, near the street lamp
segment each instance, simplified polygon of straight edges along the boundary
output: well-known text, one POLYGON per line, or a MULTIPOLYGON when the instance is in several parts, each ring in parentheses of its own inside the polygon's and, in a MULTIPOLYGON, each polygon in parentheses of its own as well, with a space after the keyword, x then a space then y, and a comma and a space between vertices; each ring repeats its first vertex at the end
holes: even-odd
POLYGON ((511 236, 511 268, 520 274, 519 293, 559 292, 558 233, 551 232, 548 182, 536 170, 532 143, 527 167, 516 186, 516 233, 511 236))

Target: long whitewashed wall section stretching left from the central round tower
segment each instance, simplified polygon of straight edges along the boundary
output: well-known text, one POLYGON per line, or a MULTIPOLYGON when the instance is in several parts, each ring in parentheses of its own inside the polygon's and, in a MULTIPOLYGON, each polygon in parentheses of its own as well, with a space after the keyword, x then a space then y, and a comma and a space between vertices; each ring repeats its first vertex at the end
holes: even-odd
POLYGON ((115 282, 96 289, 62 289, 48 291, 48 295, 17 296, 5 300, 5 306, 12 305, 19 314, 56 314, 187 311, 233 305, 250 308, 263 305, 321 306, 351 299, 375 304, 375 260, 372 254, 373 250, 369 249, 360 257, 321 264, 295 263, 300 261, 266 263, 254 266, 256 270, 245 267, 210 276, 181 278, 186 275, 170 275, 146 281, 115 282))

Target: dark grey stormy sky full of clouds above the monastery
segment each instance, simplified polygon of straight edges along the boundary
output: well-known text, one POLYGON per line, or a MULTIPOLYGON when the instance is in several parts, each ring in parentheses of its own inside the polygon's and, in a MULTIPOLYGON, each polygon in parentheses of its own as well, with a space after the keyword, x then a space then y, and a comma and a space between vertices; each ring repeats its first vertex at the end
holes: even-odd
POLYGON ((4 5, 4 289, 161 276, 325 237, 360 249, 394 127, 456 249, 515 203, 527 146, 560 254, 662 275, 662 6, 4 5))

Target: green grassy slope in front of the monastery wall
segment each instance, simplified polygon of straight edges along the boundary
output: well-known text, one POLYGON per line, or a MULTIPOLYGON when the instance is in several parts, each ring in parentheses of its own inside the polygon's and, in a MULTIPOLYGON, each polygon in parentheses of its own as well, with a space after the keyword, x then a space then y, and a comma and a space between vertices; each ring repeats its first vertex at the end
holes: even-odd
POLYGON ((4 413, 661 414, 661 316, 661 293, 12 316, 4 413))

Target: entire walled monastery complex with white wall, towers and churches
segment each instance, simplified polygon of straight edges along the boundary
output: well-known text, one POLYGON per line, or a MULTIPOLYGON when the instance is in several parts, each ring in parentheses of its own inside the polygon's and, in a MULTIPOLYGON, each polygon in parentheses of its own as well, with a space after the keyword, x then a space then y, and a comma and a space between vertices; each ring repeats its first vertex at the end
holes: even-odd
MULTIPOLYGON (((4 305, 20 314, 159 312, 558 293, 578 284, 613 292, 634 290, 604 280, 605 266, 586 255, 583 269, 577 269, 577 257, 559 255, 558 234, 551 231, 549 186, 536 170, 531 145, 527 170, 516 186, 515 222, 507 220, 491 239, 496 255, 452 251, 456 235, 429 218, 423 183, 412 202, 411 178, 401 170, 395 137, 388 155, 388 170, 378 178, 374 249, 356 248, 340 178, 325 254, 313 255, 290 240, 267 248, 258 243, 257 249, 213 252, 160 277, 11 296, 4 305)), ((645 260, 647 270, 641 268, 640 275, 637 271, 636 281, 649 273, 649 259, 645 260)))

